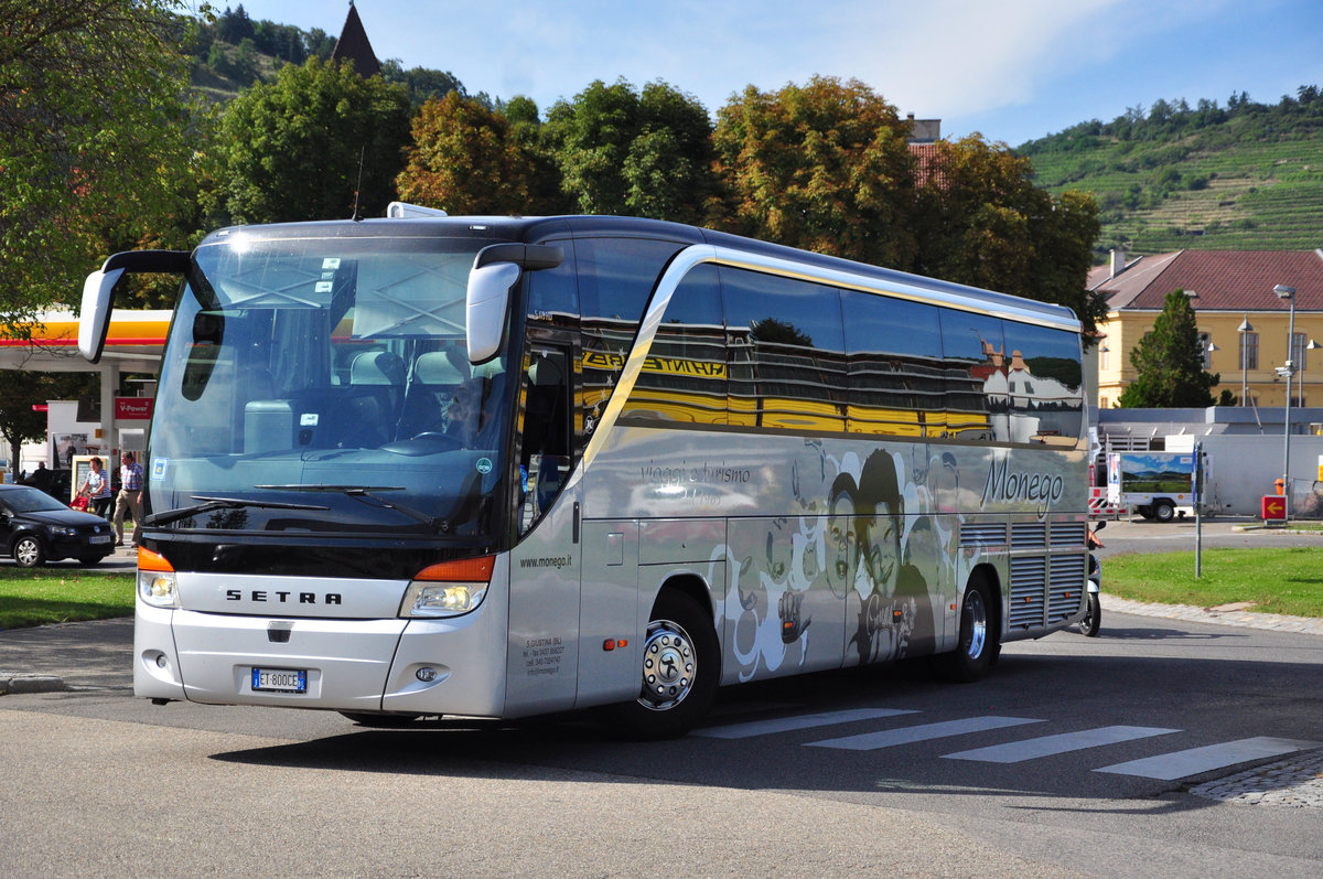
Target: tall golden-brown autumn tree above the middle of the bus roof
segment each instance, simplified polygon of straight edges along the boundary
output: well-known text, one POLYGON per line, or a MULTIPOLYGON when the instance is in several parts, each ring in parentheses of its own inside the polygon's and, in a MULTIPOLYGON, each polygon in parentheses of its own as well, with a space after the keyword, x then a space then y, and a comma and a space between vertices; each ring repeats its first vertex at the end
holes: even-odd
POLYGON ((909 267, 914 160, 908 123, 856 79, 745 89, 717 113, 726 203, 709 220, 806 250, 909 267))

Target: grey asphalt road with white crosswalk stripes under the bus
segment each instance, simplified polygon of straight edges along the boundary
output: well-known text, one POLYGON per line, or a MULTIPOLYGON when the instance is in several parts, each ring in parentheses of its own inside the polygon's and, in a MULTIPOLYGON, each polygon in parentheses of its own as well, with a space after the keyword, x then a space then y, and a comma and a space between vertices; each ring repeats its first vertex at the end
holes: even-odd
POLYGON ((0 874, 1323 874, 1323 808, 1196 793, 1323 748, 1319 635, 1110 613, 978 684, 732 688, 664 743, 583 716, 385 732, 157 707, 130 651, 126 621, 0 633, 0 669, 78 687, 0 698, 0 874))

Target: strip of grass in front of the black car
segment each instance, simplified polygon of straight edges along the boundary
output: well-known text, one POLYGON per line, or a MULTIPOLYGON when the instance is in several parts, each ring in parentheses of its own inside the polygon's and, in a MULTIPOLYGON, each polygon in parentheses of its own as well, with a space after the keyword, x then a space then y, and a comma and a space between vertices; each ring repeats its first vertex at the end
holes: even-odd
POLYGON ((130 617, 134 584, 127 572, 0 567, 0 629, 130 617))

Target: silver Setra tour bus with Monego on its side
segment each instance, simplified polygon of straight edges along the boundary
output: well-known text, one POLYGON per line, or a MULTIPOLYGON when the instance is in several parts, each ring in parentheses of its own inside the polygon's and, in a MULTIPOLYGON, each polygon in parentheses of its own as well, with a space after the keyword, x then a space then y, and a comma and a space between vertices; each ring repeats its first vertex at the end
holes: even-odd
POLYGON ((933 655, 1086 608, 1080 322, 672 222, 221 229, 146 454, 134 691, 366 725, 605 707, 933 655))

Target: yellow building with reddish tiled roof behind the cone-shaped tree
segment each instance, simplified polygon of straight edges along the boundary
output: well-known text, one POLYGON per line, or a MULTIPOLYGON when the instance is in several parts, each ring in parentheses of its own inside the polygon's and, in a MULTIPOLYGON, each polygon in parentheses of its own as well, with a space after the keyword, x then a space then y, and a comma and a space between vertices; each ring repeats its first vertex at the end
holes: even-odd
POLYGON ((1162 312, 1167 294, 1184 290, 1207 346, 1204 364, 1221 375, 1216 401, 1230 391, 1240 405, 1282 406, 1291 302, 1295 331, 1293 406, 1323 405, 1323 250, 1177 250, 1111 261, 1089 273, 1089 289, 1107 297, 1107 320, 1094 348, 1102 409, 1135 379, 1130 352, 1162 312), (1293 287, 1285 299, 1274 289, 1293 287), (1316 340, 1316 342, 1315 342, 1316 340))

